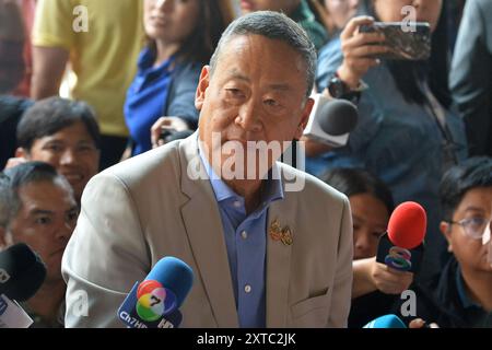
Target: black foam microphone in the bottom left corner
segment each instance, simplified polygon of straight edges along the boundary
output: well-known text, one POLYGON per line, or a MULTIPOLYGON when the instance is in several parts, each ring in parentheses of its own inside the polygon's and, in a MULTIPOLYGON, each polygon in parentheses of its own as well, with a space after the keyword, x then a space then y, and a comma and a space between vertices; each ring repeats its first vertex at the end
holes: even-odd
POLYGON ((34 296, 45 278, 45 264, 26 244, 0 252, 0 328, 27 328, 33 324, 16 301, 34 296))

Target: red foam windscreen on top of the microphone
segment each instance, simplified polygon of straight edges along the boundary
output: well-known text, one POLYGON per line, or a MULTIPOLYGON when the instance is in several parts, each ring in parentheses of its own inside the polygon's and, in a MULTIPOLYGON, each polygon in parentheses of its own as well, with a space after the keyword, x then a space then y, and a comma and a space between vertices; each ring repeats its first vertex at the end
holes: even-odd
POLYGON ((422 243, 426 226, 427 215, 422 206, 406 201, 389 218, 388 237, 398 247, 413 249, 422 243))

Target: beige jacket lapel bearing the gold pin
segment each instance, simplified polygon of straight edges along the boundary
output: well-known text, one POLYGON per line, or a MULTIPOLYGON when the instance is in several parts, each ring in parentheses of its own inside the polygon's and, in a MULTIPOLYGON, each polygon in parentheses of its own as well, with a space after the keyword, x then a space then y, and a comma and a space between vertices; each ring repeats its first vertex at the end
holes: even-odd
MULTIPOLYGON (((288 325, 289 282, 291 276, 292 245, 273 241, 270 228, 277 220, 282 228, 293 228, 295 203, 289 201, 289 194, 273 202, 268 210, 267 226, 267 327, 283 328, 288 325)), ((292 232, 295 244, 295 232, 292 232)))

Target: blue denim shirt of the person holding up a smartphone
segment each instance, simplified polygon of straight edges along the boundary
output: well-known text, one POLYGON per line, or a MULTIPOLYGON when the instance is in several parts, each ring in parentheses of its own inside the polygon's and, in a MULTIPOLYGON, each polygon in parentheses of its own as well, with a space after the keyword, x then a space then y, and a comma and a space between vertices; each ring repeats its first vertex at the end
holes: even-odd
MULTIPOLYGON (((342 62, 341 42, 329 42, 320 51, 316 84, 323 91, 342 62)), ((441 210, 438 185, 446 171, 444 138, 435 117, 425 106, 409 103, 398 91, 384 63, 363 77, 368 89, 359 102, 359 122, 345 147, 306 160, 306 171, 315 176, 333 167, 364 167, 389 186, 396 203, 413 200, 427 213, 430 244, 437 240, 441 210), (431 233, 431 235, 430 235, 431 233)), ((461 119, 445 110, 455 158, 467 156, 461 119)), ((443 240, 444 241, 444 240, 443 240)), ((437 258, 437 257, 435 257, 437 258)))

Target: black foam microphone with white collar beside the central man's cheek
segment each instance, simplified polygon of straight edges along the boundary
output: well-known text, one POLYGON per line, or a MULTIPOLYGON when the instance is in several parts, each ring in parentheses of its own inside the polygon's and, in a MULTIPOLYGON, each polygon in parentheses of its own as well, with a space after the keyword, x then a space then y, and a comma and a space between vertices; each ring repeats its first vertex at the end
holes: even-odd
POLYGON ((317 94, 304 135, 316 141, 338 148, 347 144, 350 132, 356 127, 356 106, 345 100, 330 100, 317 94))

